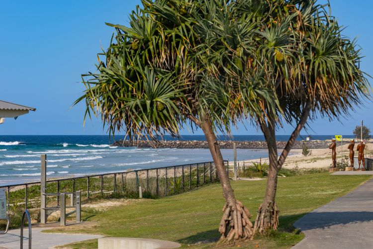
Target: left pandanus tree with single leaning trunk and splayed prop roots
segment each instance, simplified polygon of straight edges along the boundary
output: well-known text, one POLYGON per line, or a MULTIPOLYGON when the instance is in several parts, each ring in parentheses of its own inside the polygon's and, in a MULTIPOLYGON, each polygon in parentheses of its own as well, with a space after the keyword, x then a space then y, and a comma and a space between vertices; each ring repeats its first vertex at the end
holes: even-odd
POLYGON ((261 17, 245 2, 143 0, 128 27, 108 24, 116 33, 98 54, 97 72, 83 75, 86 90, 76 101, 85 101, 86 117, 93 112, 130 140, 178 136, 187 123, 201 128, 226 202, 219 232, 229 240, 252 238, 254 229, 233 193, 216 131, 229 133, 240 119, 266 113, 264 103, 273 112, 276 105, 263 68, 246 67, 261 17))

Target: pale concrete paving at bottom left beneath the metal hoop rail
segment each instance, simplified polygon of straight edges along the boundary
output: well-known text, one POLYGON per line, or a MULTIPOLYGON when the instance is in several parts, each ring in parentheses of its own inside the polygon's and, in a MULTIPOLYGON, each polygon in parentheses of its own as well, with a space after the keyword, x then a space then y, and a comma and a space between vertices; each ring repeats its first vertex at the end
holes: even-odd
MULTIPOLYGON (((42 233, 48 230, 48 227, 32 227, 31 246, 35 249, 50 249, 56 246, 62 246, 69 243, 98 239, 99 235, 85 234, 51 234, 42 233)), ((0 249, 19 249, 20 229, 9 230, 7 234, 0 235, 0 249)), ((28 227, 23 230, 23 248, 28 248, 28 227)))

